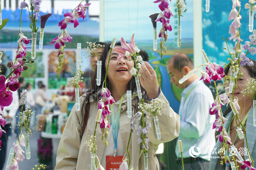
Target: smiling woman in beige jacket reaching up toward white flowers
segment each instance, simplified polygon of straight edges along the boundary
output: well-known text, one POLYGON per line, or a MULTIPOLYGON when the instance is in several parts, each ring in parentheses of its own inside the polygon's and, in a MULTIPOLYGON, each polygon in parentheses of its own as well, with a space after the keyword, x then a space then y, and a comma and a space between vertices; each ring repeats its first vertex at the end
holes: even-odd
MULTIPOLYGON (((117 43, 115 47, 120 46, 117 43)), ((102 49, 102 72, 101 72, 101 85, 96 85, 96 73, 92 77, 90 89, 85 92, 84 95, 80 97, 81 105, 80 111, 76 111, 75 108, 72 109, 69 118, 67 120, 65 129, 63 131, 61 141, 58 148, 56 167, 55 169, 90 169, 91 159, 90 152, 86 151, 84 143, 88 140, 88 136, 94 134, 94 127, 97 122, 95 118, 97 116, 98 100, 101 99, 101 90, 104 84, 104 78, 106 75, 106 68, 108 66, 108 73, 106 78, 106 86, 110 90, 115 103, 112 104, 113 110, 111 110, 111 116, 114 115, 114 122, 117 122, 117 112, 119 110, 120 104, 120 118, 119 118, 119 131, 117 135, 117 156, 124 156, 127 150, 129 134, 131 132, 131 118, 127 116, 127 99, 126 91, 131 90, 132 94, 137 94, 137 88, 135 83, 135 77, 131 76, 130 70, 131 66, 134 66, 133 61, 128 61, 127 58, 122 57, 117 60, 119 53, 113 52, 110 56, 110 43, 107 43, 102 49), (110 56, 110 57, 109 57, 110 56), (121 96, 124 96, 122 100, 121 96)), ((168 101, 164 97, 162 91, 160 90, 157 77, 154 69, 149 63, 145 62, 142 65, 140 72, 140 81, 143 88, 146 90, 144 92, 144 99, 150 101, 153 98, 158 97, 166 102, 166 105, 162 108, 162 116, 159 116, 159 125, 161 133, 165 134, 162 136, 161 140, 157 139, 155 127, 152 127, 152 133, 149 133, 148 138, 150 139, 148 151, 148 167, 150 169, 159 169, 159 164, 154 153, 156 152, 158 145, 160 143, 172 141, 179 135, 179 124, 180 117, 172 110, 169 106, 168 101)), ((134 116, 138 109, 139 98, 133 97, 132 100, 132 115, 134 116)), ((113 155, 114 139, 112 132, 112 122, 111 116, 107 116, 107 121, 110 123, 110 129, 108 134, 108 146, 101 140, 102 131, 100 128, 96 130, 96 140, 97 140, 97 151, 96 155, 99 158, 100 164, 106 169, 106 158, 107 156, 113 155)), ((153 116, 149 114, 149 120, 147 123, 151 122, 153 124, 153 116)), ((138 125, 137 125, 138 126, 138 125)), ((131 135, 131 141, 129 143, 129 153, 132 160, 132 165, 134 169, 144 169, 144 159, 139 158, 141 145, 138 144, 137 129, 131 135)), ((128 154, 126 154, 128 158, 128 154)))

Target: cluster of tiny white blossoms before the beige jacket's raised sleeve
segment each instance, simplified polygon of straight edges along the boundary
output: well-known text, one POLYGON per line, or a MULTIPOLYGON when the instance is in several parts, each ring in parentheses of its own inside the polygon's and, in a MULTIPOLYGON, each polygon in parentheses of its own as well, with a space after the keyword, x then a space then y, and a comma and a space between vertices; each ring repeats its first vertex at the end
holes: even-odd
POLYGON ((141 108, 142 111, 146 111, 153 116, 157 116, 158 114, 161 116, 161 110, 164 106, 165 102, 163 100, 160 100, 158 98, 151 100, 152 103, 139 103, 139 108, 141 108))

